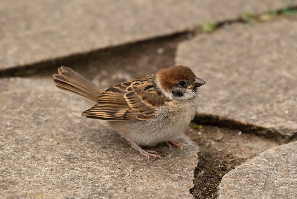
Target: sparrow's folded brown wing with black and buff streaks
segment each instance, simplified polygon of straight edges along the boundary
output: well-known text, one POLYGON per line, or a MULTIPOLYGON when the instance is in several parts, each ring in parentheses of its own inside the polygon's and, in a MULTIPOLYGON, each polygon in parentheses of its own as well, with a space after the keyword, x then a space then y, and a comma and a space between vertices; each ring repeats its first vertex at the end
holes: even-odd
POLYGON ((149 120, 154 108, 169 101, 154 85, 154 75, 115 85, 104 91, 98 103, 83 116, 103 120, 149 120))

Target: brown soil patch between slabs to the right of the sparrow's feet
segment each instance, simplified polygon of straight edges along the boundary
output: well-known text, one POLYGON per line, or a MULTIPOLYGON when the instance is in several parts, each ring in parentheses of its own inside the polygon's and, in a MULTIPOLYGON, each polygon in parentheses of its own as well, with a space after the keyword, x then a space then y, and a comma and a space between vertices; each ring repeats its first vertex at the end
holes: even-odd
MULTIPOLYGON (((191 123, 193 125, 196 124, 191 123)), ((226 173, 248 158, 281 144, 255 134, 215 126, 200 126, 198 130, 190 128, 186 134, 197 142, 203 153, 203 159, 194 171, 194 188, 190 189, 195 198, 214 198, 226 173)))

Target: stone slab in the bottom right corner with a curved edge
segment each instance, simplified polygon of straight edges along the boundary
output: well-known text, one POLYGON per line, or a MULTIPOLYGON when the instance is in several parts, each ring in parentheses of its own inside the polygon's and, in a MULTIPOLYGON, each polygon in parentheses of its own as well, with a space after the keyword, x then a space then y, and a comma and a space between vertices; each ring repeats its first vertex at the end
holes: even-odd
POLYGON ((297 142, 268 149, 228 172, 217 198, 297 198, 297 142))

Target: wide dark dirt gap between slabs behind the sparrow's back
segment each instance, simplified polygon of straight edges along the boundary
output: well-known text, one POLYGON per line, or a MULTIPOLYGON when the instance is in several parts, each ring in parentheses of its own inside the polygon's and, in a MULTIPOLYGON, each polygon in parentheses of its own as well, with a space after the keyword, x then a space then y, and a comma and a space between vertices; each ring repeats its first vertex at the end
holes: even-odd
MULTIPOLYGON (((100 49, 86 54, 61 57, 23 67, 0 71, 0 77, 47 77, 60 66, 70 67, 90 80, 98 75, 121 71, 131 78, 151 74, 174 65, 177 44, 187 39, 188 32, 152 38, 146 41, 100 49)), ((107 76, 103 75, 104 77, 107 76)), ((110 80, 110 78, 107 78, 110 80)), ((118 81, 115 81, 118 82, 118 81)), ((120 83, 120 82, 118 82, 120 83)), ((114 84, 110 84, 112 86, 114 84)))

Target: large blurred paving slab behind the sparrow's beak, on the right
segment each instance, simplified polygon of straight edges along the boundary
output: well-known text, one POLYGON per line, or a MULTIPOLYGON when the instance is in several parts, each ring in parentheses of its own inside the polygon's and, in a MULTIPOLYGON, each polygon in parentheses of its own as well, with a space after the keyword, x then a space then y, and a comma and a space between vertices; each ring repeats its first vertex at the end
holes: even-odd
POLYGON ((200 89, 201 115, 292 136, 297 133, 296 52, 297 20, 281 18, 198 35, 178 46, 176 63, 207 82, 200 89))

